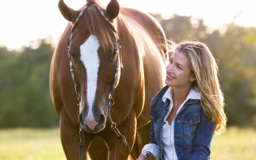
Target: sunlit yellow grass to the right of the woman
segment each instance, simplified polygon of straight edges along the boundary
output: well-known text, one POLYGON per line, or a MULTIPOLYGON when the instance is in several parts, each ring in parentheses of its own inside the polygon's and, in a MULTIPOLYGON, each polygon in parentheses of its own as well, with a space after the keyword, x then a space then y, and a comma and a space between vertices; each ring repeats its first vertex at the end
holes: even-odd
POLYGON ((211 159, 256 159, 256 130, 229 128, 221 135, 214 135, 211 159))

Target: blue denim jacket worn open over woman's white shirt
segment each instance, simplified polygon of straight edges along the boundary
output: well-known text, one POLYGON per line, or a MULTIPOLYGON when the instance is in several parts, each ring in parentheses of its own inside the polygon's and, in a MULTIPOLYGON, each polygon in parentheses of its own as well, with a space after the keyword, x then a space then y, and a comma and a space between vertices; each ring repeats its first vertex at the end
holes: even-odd
MULTIPOLYGON (((158 146, 158 159, 162 160, 162 126, 168 112, 162 96, 169 86, 165 86, 152 98, 150 103, 150 143, 158 146)), ((200 100, 189 99, 174 121, 174 146, 178 160, 210 159, 210 142, 215 125, 202 111, 200 100)))

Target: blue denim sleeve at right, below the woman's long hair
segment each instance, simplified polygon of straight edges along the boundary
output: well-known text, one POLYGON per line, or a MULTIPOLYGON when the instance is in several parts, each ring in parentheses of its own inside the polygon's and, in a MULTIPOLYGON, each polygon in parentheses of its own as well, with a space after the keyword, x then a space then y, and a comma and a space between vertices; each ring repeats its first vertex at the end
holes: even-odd
POLYGON ((201 114, 200 122, 194 134, 194 145, 190 160, 207 160, 210 159, 210 143, 214 136, 215 124, 206 117, 206 114, 201 114))

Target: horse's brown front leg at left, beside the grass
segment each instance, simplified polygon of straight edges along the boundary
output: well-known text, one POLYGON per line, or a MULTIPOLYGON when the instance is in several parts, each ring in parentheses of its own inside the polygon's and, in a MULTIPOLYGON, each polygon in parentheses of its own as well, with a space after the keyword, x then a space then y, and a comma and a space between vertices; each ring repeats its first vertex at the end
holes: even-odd
POLYGON ((60 130, 66 159, 79 160, 78 143, 80 140, 78 127, 74 126, 64 110, 60 114, 60 130))

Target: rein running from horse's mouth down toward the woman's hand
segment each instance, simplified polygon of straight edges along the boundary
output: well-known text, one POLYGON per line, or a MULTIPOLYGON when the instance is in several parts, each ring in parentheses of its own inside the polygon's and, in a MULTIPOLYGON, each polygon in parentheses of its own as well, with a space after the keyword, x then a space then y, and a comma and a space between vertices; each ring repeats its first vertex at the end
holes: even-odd
POLYGON ((117 125, 115 122, 112 121, 111 118, 111 111, 112 111, 112 107, 114 105, 114 98, 112 97, 112 93, 110 92, 109 94, 109 113, 108 113, 108 117, 110 118, 110 122, 111 122, 111 129, 114 131, 114 134, 118 137, 118 140, 121 140, 122 143, 126 146, 126 149, 129 151, 131 157, 136 160, 136 158, 134 157, 134 153, 132 152, 132 150, 130 149, 130 145, 128 144, 128 142, 126 141, 126 137, 124 135, 122 135, 120 133, 120 131, 117 128, 117 125))

